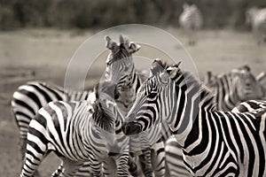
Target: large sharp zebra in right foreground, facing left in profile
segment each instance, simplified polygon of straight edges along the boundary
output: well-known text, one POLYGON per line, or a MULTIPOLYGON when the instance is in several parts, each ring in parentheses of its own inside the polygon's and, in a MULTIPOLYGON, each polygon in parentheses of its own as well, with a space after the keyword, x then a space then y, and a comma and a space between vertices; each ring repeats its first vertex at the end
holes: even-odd
POLYGON ((265 176, 266 109, 217 111, 212 92, 179 65, 153 62, 153 75, 138 89, 124 134, 166 120, 193 176, 265 176))

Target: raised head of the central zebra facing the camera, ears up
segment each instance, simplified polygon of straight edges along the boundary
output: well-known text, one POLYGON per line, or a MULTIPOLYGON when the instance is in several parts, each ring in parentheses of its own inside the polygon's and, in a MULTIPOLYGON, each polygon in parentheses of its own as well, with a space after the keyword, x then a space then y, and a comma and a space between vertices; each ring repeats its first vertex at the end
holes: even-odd
POLYGON ((135 69, 132 54, 140 46, 120 35, 120 43, 113 42, 106 36, 106 48, 111 51, 106 59, 106 81, 123 84, 135 69))

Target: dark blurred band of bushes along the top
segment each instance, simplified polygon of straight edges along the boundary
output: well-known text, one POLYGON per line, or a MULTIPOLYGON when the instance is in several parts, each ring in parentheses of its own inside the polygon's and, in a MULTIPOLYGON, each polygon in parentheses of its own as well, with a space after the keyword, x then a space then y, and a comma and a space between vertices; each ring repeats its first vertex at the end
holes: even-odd
POLYGON ((125 23, 178 27, 182 4, 197 4, 205 28, 245 27, 245 12, 263 0, 1 0, 2 30, 21 27, 90 28, 125 23))

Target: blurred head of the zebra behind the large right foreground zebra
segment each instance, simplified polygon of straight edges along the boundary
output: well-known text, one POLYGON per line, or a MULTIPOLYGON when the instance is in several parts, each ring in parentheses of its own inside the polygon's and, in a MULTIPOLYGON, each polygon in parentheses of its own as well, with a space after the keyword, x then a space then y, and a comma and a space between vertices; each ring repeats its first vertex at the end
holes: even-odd
POLYGON ((239 97, 239 101, 262 99, 264 96, 262 84, 256 80, 247 65, 232 70, 231 74, 232 84, 239 97))

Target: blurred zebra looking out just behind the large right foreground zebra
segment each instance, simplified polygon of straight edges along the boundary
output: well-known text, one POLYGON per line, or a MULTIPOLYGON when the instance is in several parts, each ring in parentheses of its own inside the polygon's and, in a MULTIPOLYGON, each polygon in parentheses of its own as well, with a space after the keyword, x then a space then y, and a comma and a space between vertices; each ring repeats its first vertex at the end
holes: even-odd
POLYGON ((262 84, 247 65, 219 75, 207 72, 204 84, 214 92, 217 109, 221 111, 231 111, 240 102, 266 96, 262 84))

